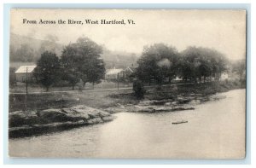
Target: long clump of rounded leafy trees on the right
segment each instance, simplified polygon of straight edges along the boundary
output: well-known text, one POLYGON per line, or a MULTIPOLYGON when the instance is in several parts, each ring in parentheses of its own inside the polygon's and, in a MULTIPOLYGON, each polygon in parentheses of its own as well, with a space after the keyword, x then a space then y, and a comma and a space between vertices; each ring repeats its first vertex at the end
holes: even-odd
POLYGON ((156 84, 170 83, 173 78, 199 82, 207 78, 219 80, 230 68, 229 60, 216 49, 188 47, 178 52, 164 43, 144 47, 137 63, 137 78, 149 84, 152 80, 156 84))

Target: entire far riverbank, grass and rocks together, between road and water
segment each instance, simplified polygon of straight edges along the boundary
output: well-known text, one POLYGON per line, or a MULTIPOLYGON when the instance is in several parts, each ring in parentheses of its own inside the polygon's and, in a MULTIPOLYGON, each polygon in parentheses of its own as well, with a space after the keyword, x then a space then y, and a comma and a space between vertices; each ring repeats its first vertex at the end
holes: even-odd
POLYGON ((38 94, 30 96, 26 111, 16 111, 22 109, 20 100, 24 99, 11 96, 11 104, 15 107, 10 107, 9 137, 40 135, 82 125, 95 125, 113 120, 111 113, 168 113, 194 110, 197 104, 224 98, 215 95, 217 92, 240 87, 241 84, 234 82, 153 87, 148 88, 142 100, 138 100, 131 90, 105 90, 67 95, 38 94))

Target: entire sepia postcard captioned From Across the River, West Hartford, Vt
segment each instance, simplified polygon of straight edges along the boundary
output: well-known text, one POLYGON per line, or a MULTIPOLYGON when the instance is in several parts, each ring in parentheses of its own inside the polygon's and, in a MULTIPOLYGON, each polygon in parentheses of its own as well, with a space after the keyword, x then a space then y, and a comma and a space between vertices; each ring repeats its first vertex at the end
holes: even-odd
POLYGON ((247 11, 11 9, 9 157, 243 159, 247 11))

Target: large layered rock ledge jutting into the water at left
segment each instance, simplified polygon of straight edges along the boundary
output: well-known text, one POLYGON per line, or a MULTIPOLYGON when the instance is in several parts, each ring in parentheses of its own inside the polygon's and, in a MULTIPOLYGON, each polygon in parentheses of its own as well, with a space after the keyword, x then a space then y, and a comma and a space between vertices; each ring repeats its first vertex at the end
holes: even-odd
POLYGON ((82 105, 41 111, 16 111, 9 113, 9 137, 40 135, 113 119, 108 112, 82 105))

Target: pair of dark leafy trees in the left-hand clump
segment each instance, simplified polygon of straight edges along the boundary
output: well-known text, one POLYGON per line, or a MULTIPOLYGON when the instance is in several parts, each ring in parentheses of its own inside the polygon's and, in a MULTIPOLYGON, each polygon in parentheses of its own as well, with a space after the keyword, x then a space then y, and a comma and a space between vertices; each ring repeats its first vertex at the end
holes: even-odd
POLYGON ((79 82, 98 84, 104 78, 105 64, 101 58, 102 47, 90 40, 79 38, 76 43, 69 43, 61 58, 55 53, 45 51, 38 60, 33 72, 39 84, 46 90, 61 80, 67 81, 73 88, 79 82))

